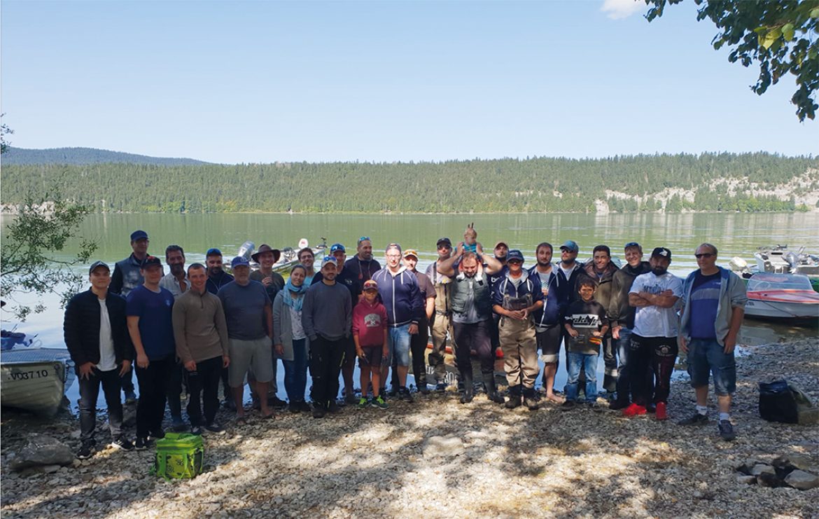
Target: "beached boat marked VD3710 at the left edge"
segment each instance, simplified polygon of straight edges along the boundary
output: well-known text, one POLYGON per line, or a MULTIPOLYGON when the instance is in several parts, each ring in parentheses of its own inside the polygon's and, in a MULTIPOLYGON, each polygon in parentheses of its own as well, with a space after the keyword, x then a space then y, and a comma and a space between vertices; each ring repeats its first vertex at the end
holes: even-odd
POLYGON ((67 403, 66 389, 76 378, 65 348, 43 348, 38 339, 2 330, 0 403, 53 416, 67 403))

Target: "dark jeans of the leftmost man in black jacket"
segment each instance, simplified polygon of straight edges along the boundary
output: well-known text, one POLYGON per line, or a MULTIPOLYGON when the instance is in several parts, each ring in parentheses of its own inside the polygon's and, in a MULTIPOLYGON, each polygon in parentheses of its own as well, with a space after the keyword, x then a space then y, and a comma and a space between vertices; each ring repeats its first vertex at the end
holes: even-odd
POLYGON ((97 397, 105 394, 108 406, 108 424, 111 426, 111 438, 122 435, 122 401, 120 400, 121 379, 119 369, 99 371, 91 370, 88 379, 79 379, 79 439, 85 443, 94 439, 97 426, 97 397))

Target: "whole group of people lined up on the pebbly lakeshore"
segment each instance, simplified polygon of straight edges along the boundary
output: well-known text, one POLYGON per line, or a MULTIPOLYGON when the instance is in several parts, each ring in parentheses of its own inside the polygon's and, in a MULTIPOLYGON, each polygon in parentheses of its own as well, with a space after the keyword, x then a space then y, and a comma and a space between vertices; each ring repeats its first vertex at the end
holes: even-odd
POLYGON ((183 386, 191 432, 224 434, 216 420, 220 381, 224 405, 240 423, 246 420, 246 384, 265 418, 286 406, 316 418, 346 404, 386 409, 387 380, 391 396, 413 401, 410 367, 421 394, 446 390, 447 346, 455 353, 461 403, 475 396, 474 355, 491 402, 509 409, 541 407, 535 389, 540 351, 546 402, 565 410, 584 402, 600 408, 596 368, 602 350, 608 407, 627 417, 654 412, 657 420, 668 417, 671 375, 681 348, 688 355, 697 407, 679 423, 708 423, 713 374, 718 430, 723 439, 735 436, 733 350, 746 296, 739 277, 716 265, 712 244, 697 248, 699 269, 683 282, 667 271, 672 261, 667 248, 654 248, 646 262, 640 244, 627 243, 626 264, 618 268, 606 245, 596 246, 590 261, 581 264, 574 241, 560 245, 556 262, 552 245, 544 242, 536 247, 535 265, 526 268, 523 253, 504 241, 486 253, 469 225, 457 246, 449 238, 437 240, 437 260, 425 272, 416 269, 414 249, 395 243, 385 248, 382 267, 371 239, 362 236, 350 258, 344 245, 333 244, 318 271, 313 251, 301 249, 285 281, 274 271, 280 251, 266 244, 252 255, 257 270, 239 256, 230 262, 232 274, 224 271, 217 248, 207 251, 204 265, 186 269, 183 248, 170 245, 165 248, 170 272, 164 275, 161 260, 147 253, 147 233, 137 230, 130 238, 133 253, 113 272, 94 262, 90 289, 66 307, 66 345, 80 386, 79 458, 93 454, 101 385, 112 445, 147 448, 165 435, 166 405, 174 430, 188 428, 181 410, 183 386), (554 380, 563 344, 568 381, 561 396, 554 380), (507 397, 495 380, 497 348, 503 352, 507 397), (288 402, 277 396, 279 359, 288 402), (126 403, 136 400, 132 371, 139 383, 135 442, 124 434, 120 394, 126 403), (337 399, 340 376, 344 393, 337 399))

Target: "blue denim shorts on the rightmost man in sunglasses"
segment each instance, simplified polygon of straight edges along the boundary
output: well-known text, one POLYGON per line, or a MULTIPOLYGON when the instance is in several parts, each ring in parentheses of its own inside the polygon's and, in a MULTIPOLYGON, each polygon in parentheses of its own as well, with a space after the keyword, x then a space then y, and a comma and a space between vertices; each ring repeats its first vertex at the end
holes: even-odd
POLYGON ((691 386, 708 385, 708 375, 713 374, 714 392, 720 396, 734 394, 736 390, 736 363, 734 353, 725 353, 717 339, 691 339, 688 344, 688 375, 691 386))

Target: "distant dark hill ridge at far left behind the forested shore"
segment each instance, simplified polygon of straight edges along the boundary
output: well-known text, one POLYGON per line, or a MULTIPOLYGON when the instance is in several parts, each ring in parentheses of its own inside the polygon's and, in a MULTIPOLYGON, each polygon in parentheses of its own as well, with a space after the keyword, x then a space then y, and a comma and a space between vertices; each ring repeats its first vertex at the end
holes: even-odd
POLYGON ((192 158, 148 157, 133 153, 111 152, 97 148, 14 148, 9 146, 2 155, 6 164, 152 164, 155 166, 193 166, 207 164, 192 158))

